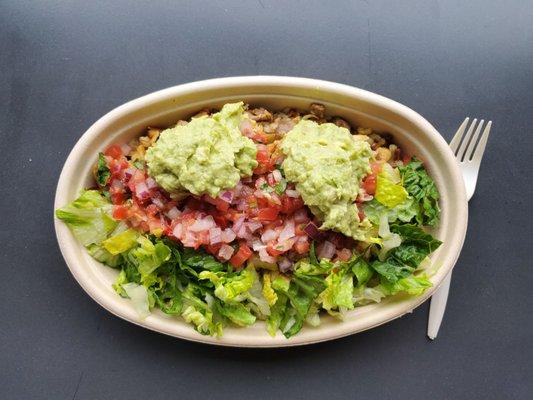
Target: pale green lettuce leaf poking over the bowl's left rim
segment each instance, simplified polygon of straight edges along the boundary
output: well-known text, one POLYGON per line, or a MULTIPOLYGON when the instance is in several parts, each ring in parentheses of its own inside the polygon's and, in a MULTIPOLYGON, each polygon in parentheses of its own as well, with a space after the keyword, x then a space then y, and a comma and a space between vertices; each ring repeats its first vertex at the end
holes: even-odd
POLYGON ((84 246, 99 244, 113 232, 117 221, 111 218, 112 204, 97 190, 86 190, 72 203, 56 210, 84 246))

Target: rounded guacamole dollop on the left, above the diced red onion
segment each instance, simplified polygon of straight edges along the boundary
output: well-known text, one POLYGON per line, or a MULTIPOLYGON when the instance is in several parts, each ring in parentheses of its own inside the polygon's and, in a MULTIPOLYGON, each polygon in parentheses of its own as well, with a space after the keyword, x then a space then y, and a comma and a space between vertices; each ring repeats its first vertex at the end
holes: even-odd
POLYGON ((186 191, 216 197, 235 187, 257 166, 257 147, 239 130, 243 119, 243 103, 231 103, 164 130, 146 152, 148 173, 174 197, 186 191))

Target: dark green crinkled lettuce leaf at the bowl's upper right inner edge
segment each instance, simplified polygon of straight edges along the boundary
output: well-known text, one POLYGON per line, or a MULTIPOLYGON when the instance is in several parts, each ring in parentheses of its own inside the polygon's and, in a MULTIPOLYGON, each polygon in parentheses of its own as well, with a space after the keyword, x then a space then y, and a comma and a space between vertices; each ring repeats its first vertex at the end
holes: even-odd
POLYGON ((413 157, 399 167, 403 185, 418 205, 416 220, 419 225, 434 226, 439 221, 439 192, 437 186, 425 170, 422 162, 413 157))

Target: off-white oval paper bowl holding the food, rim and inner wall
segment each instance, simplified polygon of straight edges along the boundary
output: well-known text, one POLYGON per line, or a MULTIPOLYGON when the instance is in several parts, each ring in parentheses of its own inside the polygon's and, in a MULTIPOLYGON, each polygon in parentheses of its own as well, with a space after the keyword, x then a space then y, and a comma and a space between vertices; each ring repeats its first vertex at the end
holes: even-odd
POLYGON ((242 347, 294 346, 335 339, 400 317, 430 297, 454 266, 466 233, 467 201, 455 158, 444 139, 419 114, 385 97, 346 85, 277 76, 221 78, 175 86, 130 101, 100 118, 76 143, 61 172, 54 207, 63 207, 91 184, 96 155, 111 143, 126 142, 148 125, 164 127, 204 107, 220 107, 239 100, 271 109, 306 109, 310 103, 320 102, 326 105, 328 114, 340 115, 354 125, 392 133, 403 149, 422 159, 441 194, 441 222, 434 233, 444 243, 432 256, 433 262, 440 265, 431 279, 434 286, 419 297, 395 296, 358 307, 343 322, 323 317, 319 327, 305 326, 291 339, 280 333, 272 338, 262 322, 248 328, 228 327, 224 336, 217 339, 202 336, 180 318, 158 310, 140 319, 130 301, 119 297, 111 287, 117 272, 94 261, 67 226, 56 219, 61 252, 83 289, 113 314, 145 328, 197 342, 242 347))

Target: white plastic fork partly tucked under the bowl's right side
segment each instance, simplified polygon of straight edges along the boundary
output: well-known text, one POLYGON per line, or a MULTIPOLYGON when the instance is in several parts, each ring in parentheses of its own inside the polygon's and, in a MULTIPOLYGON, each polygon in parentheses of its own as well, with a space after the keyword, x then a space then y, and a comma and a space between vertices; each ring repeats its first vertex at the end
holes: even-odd
MULTIPOLYGON (((466 129, 468 121, 469 118, 466 118, 463 121, 450 142, 450 147, 457 158, 459 168, 463 174, 467 200, 470 200, 476 190, 479 166, 481 165, 481 159, 485 152, 485 146, 487 145, 487 139, 489 138, 492 121, 489 121, 487 125, 485 125, 481 138, 479 138, 479 134, 483 129, 485 121, 481 120, 479 121, 479 124, 477 124, 477 119, 474 118, 468 129, 466 129)), ((446 310, 446 302, 448 301, 451 280, 452 273, 450 272, 448 276, 444 278, 444 281, 438 290, 433 294, 433 297, 431 297, 427 330, 427 335, 431 340, 435 339, 439 333, 440 324, 444 317, 444 311, 446 310)))

